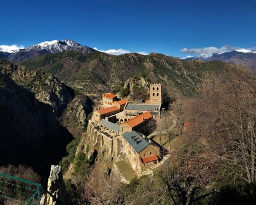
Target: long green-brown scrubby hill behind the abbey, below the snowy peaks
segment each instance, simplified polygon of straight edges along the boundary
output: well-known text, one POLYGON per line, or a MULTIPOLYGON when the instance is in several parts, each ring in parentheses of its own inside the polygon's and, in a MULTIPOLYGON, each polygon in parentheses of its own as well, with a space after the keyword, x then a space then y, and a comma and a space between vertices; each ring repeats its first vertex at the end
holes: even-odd
POLYGON ((243 67, 222 61, 184 61, 163 54, 124 54, 112 56, 101 52, 83 54, 74 50, 47 54, 23 61, 53 74, 74 90, 98 93, 113 90, 132 76, 143 76, 166 88, 193 95, 205 73, 227 73, 243 67))

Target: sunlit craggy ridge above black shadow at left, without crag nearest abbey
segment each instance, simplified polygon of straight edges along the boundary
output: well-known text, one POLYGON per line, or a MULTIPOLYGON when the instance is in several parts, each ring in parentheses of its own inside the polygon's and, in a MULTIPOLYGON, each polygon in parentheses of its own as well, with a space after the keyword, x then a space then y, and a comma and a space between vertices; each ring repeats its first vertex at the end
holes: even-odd
POLYGON ((0 73, 8 74, 16 83, 35 93, 37 100, 53 107, 56 117, 60 117, 74 98, 74 91, 39 69, 27 66, 15 66, 9 61, 0 59, 0 73))

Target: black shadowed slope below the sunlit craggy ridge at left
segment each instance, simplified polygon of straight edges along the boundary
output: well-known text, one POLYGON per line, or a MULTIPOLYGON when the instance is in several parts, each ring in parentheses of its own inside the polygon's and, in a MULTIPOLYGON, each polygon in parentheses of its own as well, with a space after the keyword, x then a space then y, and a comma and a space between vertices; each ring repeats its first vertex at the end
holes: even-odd
POLYGON ((51 105, 0 74, 0 165, 29 165, 48 175, 49 166, 61 160, 72 139, 51 105))

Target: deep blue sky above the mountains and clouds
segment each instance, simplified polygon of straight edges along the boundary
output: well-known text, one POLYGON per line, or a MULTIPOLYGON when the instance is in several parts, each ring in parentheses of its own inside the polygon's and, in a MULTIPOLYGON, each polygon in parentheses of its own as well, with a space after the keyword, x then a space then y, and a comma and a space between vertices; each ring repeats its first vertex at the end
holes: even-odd
POLYGON ((177 57, 256 47, 256 0, 0 0, 0 20, 0 45, 67 38, 177 57))

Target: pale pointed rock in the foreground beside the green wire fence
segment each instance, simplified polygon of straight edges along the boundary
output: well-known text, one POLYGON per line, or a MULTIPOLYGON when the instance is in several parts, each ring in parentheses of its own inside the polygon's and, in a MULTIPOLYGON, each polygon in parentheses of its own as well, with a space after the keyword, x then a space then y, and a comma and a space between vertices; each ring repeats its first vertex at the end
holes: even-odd
POLYGON ((60 166, 51 166, 51 172, 48 179, 48 192, 41 198, 42 205, 69 205, 72 204, 70 194, 67 192, 66 185, 63 180, 63 175, 60 166))

